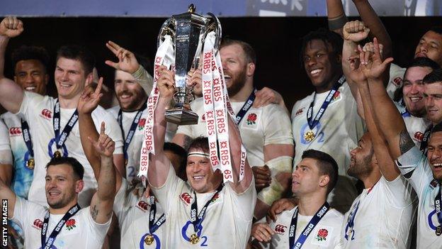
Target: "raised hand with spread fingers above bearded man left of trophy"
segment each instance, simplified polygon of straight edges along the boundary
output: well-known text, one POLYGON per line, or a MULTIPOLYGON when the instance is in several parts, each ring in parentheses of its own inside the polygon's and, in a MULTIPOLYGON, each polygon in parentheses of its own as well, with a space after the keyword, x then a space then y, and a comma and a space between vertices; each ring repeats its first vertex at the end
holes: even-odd
POLYGON ((106 65, 130 74, 137 71, 138 67, 140 67, 140 64, 138 63, 137 58, 135 58, 133 52, 121 48, 120 45, 111 40, 106 43, 106 47, 108 47, 108 49, 111 50, 116 57, 118 57, 118 62, 106 60, 104 62, 106 65))

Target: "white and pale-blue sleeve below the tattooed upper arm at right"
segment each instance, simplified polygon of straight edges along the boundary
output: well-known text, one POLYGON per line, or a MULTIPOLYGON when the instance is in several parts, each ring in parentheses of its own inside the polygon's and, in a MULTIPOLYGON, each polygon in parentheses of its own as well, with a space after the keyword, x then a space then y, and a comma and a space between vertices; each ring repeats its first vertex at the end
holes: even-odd
POLYGON ((405 179, 412 184, 420 199, 421 190, 431 182, 433 177, 426 156, 421 153, 419 148, 414 146, 403 155, 397 157, 396 165, 405 179))

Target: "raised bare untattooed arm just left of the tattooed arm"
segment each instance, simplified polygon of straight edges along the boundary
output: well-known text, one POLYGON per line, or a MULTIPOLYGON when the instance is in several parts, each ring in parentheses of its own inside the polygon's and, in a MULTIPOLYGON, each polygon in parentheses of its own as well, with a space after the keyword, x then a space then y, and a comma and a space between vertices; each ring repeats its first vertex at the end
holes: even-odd
MULTIPOLYGON (((365 54, 369 52, 361 51, 360 58, 365 57, 365 54)), ((378 161, 378 166, 382 175, 388 181, 392 181, 396 179, 400 172, 396 167, 395 162, 393 161, 390 150, 388 150, 387 141, 380 131, 380 127, 378 126, 379 121, 376 121, 376 117, 374 114, 373 102, 370 97, 370 90, 368 87, 368 80, 363 74, 363 67, 367 67, 367 65, 358 65, 353 64, 351 70, 353 73, 351 74, 354 78, 356 84, 358 84, 359 91, 361 92, 361 100, 363 103, 363 109, 365 114, 365 123, 367 125, 368 132, 370 133, 370 138, 373 143, 374 152, 376 155, 376 160, 378 161), (356 77, 359 75, 358 77, 356 77)), ((380 72, 382 74, 382 72, 380 72)), ((380 75, 379 75, 380 76, 380 75)))

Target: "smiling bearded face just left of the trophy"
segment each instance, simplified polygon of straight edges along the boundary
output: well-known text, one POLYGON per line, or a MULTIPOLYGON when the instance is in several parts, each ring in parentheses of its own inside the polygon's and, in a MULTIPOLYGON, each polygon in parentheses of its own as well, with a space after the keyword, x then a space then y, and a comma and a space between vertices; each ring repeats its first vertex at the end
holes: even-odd
POLYGON ((135 78, 120 70, 115 71, 115 94, 123 111, 135 111, 145 103, 147 94, 135 78))

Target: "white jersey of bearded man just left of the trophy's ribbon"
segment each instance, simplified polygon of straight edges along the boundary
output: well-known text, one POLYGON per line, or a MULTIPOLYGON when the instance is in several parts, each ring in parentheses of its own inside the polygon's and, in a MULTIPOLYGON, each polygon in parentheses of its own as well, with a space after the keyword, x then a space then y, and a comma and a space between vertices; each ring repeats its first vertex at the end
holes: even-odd
MULTIPOLYGON (((118 121, 118 111, 120 111, 120 106, 114 106, 111 109, 107 109, 109 114, 111 114, 115 120, 118 121)), ((138 111, 122 111, 121 116, 123 117, 123 133, 124 139, 128 138, 128 133, 130 131, 130 126, 132 126, 132 121, 135 116, 137 116, 138 111)), ((138 121, 138 126, 135 129, 135 134, 133 135, 132 141, 128 148, 128 165, 126 165, 126 179, 128 182, 132 182, 134 177, 137 177, 138 170, 140 170, 140 153, 142 146, 142 137, 145 131, 145 124, 147 118, 149 117, 147 110, 143 111, 140 121, 138 121)), ((166 139, 165 142, 170 142, 174 138, 176 131, 176 125, 174 123, 167 123, 166 129, 166 139)), ((124 140, 123 140, 124 144, 124 140)), ((122 147, 123 150, 123 147, 122 147)))

